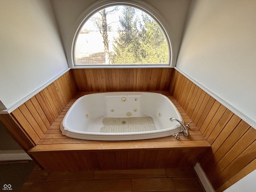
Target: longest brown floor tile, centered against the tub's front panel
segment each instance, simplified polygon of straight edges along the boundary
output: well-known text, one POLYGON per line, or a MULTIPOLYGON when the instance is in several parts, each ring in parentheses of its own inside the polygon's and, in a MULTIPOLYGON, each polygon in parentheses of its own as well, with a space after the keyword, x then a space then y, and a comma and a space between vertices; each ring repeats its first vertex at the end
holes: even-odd
POLYGON ((166 177, 164 169, 104 170, 95 171, 94 179, 105 178, 161 178, 166 177))

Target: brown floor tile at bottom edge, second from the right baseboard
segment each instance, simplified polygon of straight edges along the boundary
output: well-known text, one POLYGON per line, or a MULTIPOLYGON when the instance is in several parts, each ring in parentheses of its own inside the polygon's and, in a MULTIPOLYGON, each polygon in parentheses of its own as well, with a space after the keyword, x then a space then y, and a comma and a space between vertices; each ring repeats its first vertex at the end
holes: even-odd
POLYGON ((172 178, 139 178, 132 179, 132 191, 174 191, 172 178))

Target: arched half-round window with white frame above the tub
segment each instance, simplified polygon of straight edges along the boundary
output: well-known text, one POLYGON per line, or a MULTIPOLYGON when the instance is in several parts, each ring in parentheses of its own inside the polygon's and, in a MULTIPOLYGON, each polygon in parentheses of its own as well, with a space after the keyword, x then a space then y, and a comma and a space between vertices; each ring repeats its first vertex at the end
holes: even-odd
POLYGON ((152 7, 108 2, 84 13, 72 43, 73 66, 170 66, 170 39, 152 7))

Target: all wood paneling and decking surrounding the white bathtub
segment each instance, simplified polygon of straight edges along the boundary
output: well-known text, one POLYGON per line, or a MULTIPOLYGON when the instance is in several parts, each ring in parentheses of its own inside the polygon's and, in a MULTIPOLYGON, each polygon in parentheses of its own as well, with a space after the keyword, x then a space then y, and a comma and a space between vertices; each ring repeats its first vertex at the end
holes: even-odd
POLYGON ((192 167, 217 192, 256 169, 256 130, 173 68, 71 69, 10 114, 16 142, 46 171, 192 167), (190 137, 92 141, 63 136, 60 123, 84 94, 151 91, 166 95, 190 124, 190 137))

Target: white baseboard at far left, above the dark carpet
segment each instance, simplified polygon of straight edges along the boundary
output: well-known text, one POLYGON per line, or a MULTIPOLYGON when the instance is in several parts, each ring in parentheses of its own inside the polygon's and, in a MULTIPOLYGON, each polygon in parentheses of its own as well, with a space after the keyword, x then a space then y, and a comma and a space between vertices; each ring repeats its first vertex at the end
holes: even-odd
POLYGON ((32 160, 24 150, 0 150, 0 161, 32 160))

